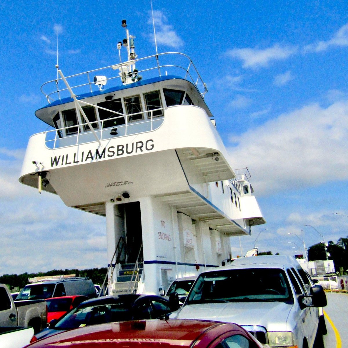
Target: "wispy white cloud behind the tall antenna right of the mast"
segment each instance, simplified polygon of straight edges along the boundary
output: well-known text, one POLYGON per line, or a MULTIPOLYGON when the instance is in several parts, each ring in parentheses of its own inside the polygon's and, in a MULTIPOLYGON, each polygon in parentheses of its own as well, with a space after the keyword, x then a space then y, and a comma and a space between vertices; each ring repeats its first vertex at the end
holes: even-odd
MULTIPOLYGON (((168 23, 167 17, 162 11, 153 11, 153 19, 155 22, 156 41, 157 44, 177 48, 184 45, 183 40, 173 30, 173 26, 168 23)), ((152 16, 148 20, 148 24, 152 25, 152 16)), ((155 42, 155 40, 153 39, 155 42)))

